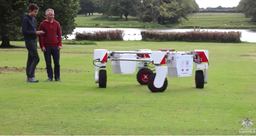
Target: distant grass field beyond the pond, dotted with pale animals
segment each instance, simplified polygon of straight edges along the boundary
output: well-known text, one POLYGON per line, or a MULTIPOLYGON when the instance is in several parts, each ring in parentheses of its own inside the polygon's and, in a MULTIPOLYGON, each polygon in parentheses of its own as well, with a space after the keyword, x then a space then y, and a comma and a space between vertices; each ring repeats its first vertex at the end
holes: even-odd
POLYGON ((250 18, 245 18, 244 14, 242 13, 196 13, 194 15, 189 15, 188 18, 189 20, 181 19, 180 23, 164 26, 157 23, 140 23, 134 17, 128 17, 128 21, 125 21, 124 18, 106 18, 102 17, 101 14, 99 15, 97 13, 94 13, 93 16, 87 17, 85 15, 78 15, 75 23, 78 24, 77 27, 96 28, 113 26, 113 28, 151 27, 159 29, 188 29, 194 27, 201 27, 205 29, 256 29, 256 24, 252 22, 249 23, 250 18), (192 17, 194 17, 194 19, 192 17), (96 26, 96 24, 98 25, 96 26), (244 26, 242 26, 242 24, 244 24, 244 26))

